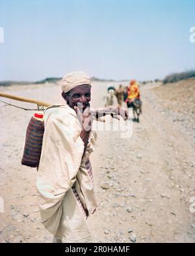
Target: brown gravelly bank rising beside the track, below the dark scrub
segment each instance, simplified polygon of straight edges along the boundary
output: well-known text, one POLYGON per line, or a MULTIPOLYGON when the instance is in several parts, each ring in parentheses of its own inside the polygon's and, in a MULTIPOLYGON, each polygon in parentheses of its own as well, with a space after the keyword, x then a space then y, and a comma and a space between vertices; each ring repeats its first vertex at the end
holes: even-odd
POLYGON ((153 91, 159 97, 161 111, 195 142, 195 79, 166 84, 153 91))

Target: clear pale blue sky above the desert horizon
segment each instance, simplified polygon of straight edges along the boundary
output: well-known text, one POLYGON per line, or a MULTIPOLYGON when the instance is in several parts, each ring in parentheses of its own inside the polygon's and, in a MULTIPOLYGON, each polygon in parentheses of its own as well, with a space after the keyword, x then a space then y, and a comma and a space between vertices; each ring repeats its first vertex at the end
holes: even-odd
POLYGON ((0 0, 0 80, 116 80, 195 67, 195 0, 0 0))

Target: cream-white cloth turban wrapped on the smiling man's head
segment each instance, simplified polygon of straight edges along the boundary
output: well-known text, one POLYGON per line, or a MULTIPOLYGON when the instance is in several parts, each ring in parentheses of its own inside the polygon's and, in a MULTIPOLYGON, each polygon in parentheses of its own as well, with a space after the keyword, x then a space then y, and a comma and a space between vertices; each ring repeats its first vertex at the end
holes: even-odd
POLYGON ((85 72, 72 72, 66 74, 61 81, 61 87, 64 93, 67 93, 77 86, 82 86, 83 84, 89 84, 91 86, 90 78, 85 72))

